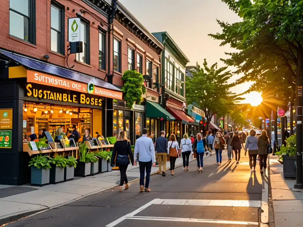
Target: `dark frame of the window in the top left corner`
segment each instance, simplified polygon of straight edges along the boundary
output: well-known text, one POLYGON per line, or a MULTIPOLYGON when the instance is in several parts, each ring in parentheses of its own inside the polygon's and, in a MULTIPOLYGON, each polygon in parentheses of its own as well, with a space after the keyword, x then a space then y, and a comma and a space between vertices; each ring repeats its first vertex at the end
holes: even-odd
POLYGON ((8 12, 12 11, 18 15, 28 18, 28 20, 29 20, 29 22, 28 22, 28 40, 25 40, 24 38, 20 38, 15 35, 11 35, 9 33, 10 16, 8 16, 8 34, 12 37, 23 40, 27 43, 36 45, 36 1, 35 0, 27 0, 27 1, 28 1, 29 16, 26 16, 26 15, 22 14, 21 12, 18 12, 17 10, 10 8, 9 2, 8 2, 8 12))

